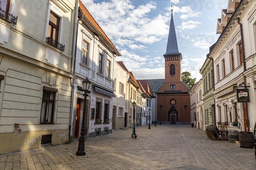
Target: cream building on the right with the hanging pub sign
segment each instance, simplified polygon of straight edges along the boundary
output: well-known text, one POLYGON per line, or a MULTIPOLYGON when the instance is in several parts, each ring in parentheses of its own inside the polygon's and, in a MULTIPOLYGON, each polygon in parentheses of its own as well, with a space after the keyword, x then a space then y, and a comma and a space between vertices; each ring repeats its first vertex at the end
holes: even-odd
POLYGON ((216 121, 239 122, 242 131, 252 131, 256 122, 256 1, 229 0, 218 19, 218 41, 209 57, 214 60, 216 121), (230 15, 231 14, 231 15, 230 15), (222 24, 222 25, 221 25, 222 24), (247 88, 250 102, 237 101, 237 91, 247 88))

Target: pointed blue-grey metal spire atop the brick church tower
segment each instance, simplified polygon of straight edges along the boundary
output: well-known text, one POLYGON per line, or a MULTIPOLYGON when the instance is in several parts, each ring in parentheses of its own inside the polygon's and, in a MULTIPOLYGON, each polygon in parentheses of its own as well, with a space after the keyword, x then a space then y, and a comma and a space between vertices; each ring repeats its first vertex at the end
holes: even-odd
MULTIPOLYGON (((173 11, 173 9, 171 11, 173 11)), ((179 49, 178 49, 175 26, 174 26, 174 21, 172 16, 170 29, 169 29, 168 42, 166 47, 166 54, 163 54, 163 56, 173 55, 173 54, 181 54, 181 53, 179 52, 179 49)))

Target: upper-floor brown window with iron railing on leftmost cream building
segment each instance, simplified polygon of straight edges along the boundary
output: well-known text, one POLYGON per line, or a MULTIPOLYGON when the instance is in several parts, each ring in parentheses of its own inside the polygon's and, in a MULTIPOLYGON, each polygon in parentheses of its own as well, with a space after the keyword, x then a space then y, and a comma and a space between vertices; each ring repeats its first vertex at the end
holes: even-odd
POLYGON ((59 31, 60 18, 50 12, 49 28, 48 28, 48 37, 52 40, 58 41, 58 31, 59 31))

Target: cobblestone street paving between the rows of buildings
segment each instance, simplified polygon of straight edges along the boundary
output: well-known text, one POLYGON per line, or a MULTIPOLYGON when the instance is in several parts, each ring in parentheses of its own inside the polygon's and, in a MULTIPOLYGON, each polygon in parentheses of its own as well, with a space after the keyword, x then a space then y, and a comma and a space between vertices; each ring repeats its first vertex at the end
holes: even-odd
POLYGON ((253 149, 207 139, 189 125, 151 125, 116 130, 86 141, 86 156, 76 156, 78 141, 0 156, 0 169, 36 170, 255 170, 253 149))

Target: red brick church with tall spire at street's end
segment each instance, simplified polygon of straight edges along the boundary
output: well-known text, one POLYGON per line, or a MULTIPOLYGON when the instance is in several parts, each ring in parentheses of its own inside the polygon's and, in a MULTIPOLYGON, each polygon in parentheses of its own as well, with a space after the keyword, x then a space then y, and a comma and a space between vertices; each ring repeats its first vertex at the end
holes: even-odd
MULTIPOLYGON (((153 105, 157 124, 180 124, 190 122, 189 88, 181 81, 182 54, 178 50, 177 37, 171 15, 166 47, 165 79, 149 79, 148 83, 157 97, 153 105)), ((153 116, 153 121, 154 116, 153 116)))

